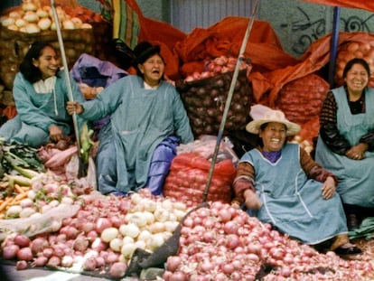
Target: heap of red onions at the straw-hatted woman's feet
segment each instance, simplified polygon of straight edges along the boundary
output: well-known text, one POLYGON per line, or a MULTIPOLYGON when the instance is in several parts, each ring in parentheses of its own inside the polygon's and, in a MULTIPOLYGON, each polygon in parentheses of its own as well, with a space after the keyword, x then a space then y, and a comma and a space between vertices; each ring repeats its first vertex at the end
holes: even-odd
POLYGON ((212 202, 209 209, 192 212, 181 231, 178 255, 167 259, 165 281, 374 277, 369 261, 344 260, 331 251, 321 254, 229 204, 212 202))

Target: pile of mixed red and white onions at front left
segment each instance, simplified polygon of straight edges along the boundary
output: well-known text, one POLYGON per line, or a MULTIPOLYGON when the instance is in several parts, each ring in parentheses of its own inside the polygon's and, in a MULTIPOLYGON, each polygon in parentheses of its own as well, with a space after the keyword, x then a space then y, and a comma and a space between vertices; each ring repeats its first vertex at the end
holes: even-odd
POLYGON ((91 192, 74 204, 80 204, 79 211, 63 219, 54 232, 9 235, 2 257, 17 260, 17 269, 72 267, 122 277, 135 249, 152 253, 172 236, 187 212, 184 203, 153 197, 147 190, 129 197, 91 192))

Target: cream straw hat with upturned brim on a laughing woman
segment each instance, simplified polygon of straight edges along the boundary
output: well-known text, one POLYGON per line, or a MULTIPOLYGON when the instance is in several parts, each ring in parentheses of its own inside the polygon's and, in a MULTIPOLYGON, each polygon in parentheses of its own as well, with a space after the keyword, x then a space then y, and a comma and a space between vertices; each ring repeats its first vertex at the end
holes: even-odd
POLYGON ((249 115, 253 118, 253 121, 247 124, 246 129, 252 134, 258 134, 260 126, 269 122, 285 124, 286 136, 295 136, 301 129, 298 124, 287 120, 281 110, 267 108, 263 105, 252 106, 249 115))

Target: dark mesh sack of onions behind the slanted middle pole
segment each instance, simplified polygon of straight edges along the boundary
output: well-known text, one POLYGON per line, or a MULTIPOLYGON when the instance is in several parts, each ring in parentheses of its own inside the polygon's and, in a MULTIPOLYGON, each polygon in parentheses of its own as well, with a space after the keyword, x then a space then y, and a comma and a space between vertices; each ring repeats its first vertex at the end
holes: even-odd
MULTIPOLYGON (((208 78, 184 80, 177 89, 190 117, 195 137, 217 135, 220 129, 233 71, 208 78)), ((252 90, 248 82, 248 69, 240 70, 225 123, 225 131, 244 129, 248 123, 252 90)))

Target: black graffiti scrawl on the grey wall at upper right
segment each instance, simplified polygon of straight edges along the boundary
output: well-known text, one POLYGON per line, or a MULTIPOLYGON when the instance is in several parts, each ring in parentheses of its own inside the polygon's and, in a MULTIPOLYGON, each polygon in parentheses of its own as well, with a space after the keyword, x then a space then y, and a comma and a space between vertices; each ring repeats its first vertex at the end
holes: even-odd
MULTIPOLYGON (((293 44, 291 50, 296 54, 303 54, 315 40, 323 37, 330 31, 332 23, 327 25, 326 19, 321 17, 315 19, 315 15, 310 16, 303 8, 296 7, 298 19, 292 23, 283 23, 281 28, 287 28, 292 32, 293 44), (290 25, 291 24, 291 25, 290 25), (328 30, 329 29, 329 30, 328 30)), ((374 32, 374 14, 348 15, 340 17, 340 30, 343 32, 374 32), (371 29, 370 29, 371 27, 371 29)))

